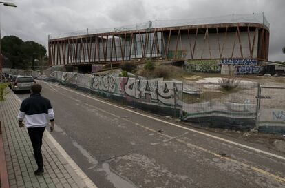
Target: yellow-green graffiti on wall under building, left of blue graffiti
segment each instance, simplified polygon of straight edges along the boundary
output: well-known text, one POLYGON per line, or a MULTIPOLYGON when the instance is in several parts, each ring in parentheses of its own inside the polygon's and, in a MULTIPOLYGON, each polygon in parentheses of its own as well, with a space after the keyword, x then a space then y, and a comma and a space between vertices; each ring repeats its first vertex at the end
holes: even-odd
POLYGON ((187 72, 207 72, 207 73, 219 73, 221 72, 221 65, 218 61, 210 60, 189 60, 185 65, 187 72))

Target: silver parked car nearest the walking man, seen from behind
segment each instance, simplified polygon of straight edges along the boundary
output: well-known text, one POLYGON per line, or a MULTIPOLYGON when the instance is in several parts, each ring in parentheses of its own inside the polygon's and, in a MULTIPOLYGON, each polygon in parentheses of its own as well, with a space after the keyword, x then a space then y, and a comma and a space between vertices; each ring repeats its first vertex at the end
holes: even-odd
POLYGON ((14 90, 14 93, 22 90, 30 91, 34 83, 36 83, 36 81, 34 81, 32 76, 17 76, 14 83, 12 83, 12 90, 14 90))

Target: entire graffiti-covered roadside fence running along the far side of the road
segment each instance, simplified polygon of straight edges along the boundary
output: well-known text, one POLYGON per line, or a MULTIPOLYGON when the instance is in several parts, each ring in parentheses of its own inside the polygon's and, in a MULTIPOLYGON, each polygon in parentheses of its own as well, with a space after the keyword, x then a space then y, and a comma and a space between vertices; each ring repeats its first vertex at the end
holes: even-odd
POLYGON ((51 77, 120 103, 201 126, 285 131, 285 87, 262 87, 235 79, 182 83, 58 71, 51 77))

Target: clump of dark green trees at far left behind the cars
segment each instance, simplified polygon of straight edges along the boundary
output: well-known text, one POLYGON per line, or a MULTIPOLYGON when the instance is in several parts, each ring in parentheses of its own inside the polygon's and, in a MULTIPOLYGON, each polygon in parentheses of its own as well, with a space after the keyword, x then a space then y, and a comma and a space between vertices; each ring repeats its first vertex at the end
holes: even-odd
POLYGON ((25 68, 32 64, 34 70, 34 60, 43 59, 47 50, 45 47, 34 41, 22 41, 17 36, 4 36, 1 39, 4 59, 7 59, 11 68, 25 68))

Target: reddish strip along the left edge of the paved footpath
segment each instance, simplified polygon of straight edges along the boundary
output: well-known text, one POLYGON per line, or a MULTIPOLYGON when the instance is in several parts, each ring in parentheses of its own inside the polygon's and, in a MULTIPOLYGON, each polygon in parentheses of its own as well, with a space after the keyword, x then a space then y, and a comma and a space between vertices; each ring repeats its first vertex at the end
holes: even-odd
POLYGON ((2 137, 2 129, 1 129, 1 121, 0 121, 0 187, 1 188, 9 188, 9 180, 8 173, 6 167, 6 158, 5 151, 3 146, 3 137, 2 137))

